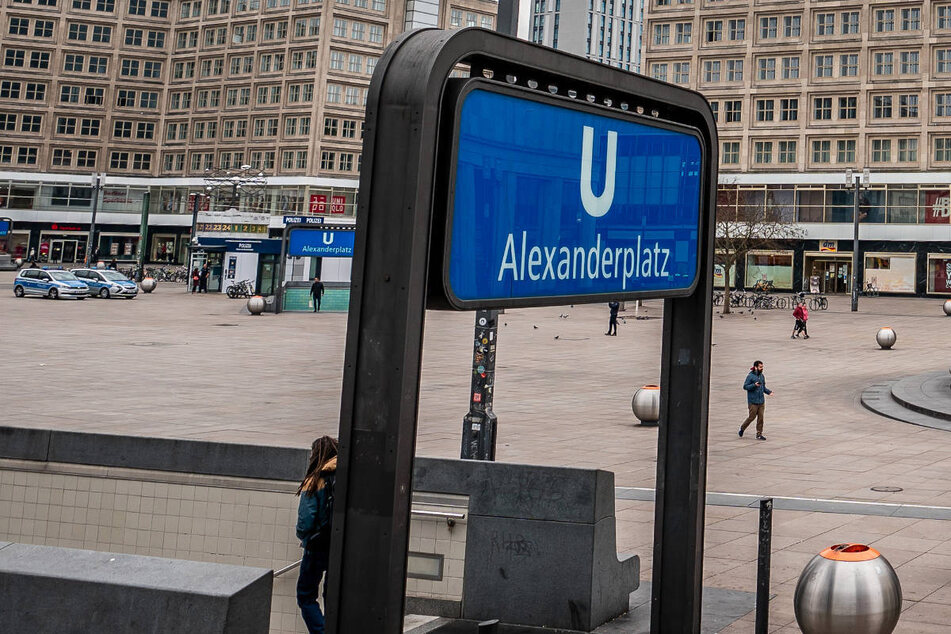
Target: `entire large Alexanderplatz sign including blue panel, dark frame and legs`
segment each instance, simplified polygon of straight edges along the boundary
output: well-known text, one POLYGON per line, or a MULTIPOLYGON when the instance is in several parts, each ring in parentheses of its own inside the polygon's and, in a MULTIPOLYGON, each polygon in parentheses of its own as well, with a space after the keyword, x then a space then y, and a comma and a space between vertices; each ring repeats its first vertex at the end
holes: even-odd
POLYGON ((482 29, 390 45, 366 111, 328 632, 402 631, 427 307, 608 298, 665 299, 652 631, 699 632, 716 148, 695 92, 482 29))

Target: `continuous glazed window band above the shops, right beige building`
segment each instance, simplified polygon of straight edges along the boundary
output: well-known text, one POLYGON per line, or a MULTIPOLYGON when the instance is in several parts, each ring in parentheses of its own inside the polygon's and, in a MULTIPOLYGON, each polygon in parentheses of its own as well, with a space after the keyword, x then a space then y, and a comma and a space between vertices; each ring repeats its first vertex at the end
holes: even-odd
MULTIPOLYGON (((873 185, 859 193, 863 224, 949 224, 951 185, 873 185)), ((720 219, 770 211, 789 222, 851 223, 855 192, 844 185, 721 185, 720 219)), ((771 214, 771 215, 772 215, 771 214)))

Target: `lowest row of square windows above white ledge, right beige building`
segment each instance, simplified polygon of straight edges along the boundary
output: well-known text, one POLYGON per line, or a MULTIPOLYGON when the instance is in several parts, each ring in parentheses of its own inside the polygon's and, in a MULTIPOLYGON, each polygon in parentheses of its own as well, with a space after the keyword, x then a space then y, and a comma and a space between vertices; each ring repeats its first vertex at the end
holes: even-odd
MULTIPOLYGON (((809 154, 799 156, 799 141, 789 140, 751 140, 750 165, 759 167, 793 166, 799 163, 800 158, 813 167, 831 166, 833 164, 852 166, 856 162, 867 162, 874 165, 917 168, 920 163, 919 139, 917 137, 893 139, 868 139, 866 143, 866 157, 858 157, 856 139, 812 139, 808 141, 809 154), (858 160, 857 160, 858 159, 858 160)), ((723 141, 721 144, 720 164, 723 166, 740 165, 740 141, 723 141)), ((931 158, 933 163, 951 162, 951 137, 932 138, 931 158)))

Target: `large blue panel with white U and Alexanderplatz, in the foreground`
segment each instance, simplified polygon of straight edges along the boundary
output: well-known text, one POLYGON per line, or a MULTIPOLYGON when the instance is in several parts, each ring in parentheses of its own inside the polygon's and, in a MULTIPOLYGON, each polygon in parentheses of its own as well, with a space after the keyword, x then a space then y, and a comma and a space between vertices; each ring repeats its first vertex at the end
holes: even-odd
POLYGON ((696 130, 497 83, 469 82, 456 103, 451 304, 690 293, 703 187, 696 130))

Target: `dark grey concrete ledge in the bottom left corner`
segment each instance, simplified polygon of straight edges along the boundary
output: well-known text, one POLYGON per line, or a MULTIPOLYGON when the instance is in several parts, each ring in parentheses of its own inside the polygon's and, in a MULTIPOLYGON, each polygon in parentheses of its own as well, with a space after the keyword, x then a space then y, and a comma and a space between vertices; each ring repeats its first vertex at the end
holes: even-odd
POLYGON ((0 632, 266 634, 272 583, 263 568, 9 544, 0 632))

